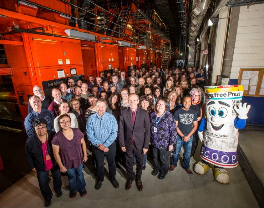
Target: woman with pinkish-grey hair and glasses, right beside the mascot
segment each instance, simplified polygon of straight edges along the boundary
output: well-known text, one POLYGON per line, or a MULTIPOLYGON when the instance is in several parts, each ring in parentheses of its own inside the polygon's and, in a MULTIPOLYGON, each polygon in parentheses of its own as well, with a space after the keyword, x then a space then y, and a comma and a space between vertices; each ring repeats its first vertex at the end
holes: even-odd
MULTIPOLYGON (((205 104, 202 101, 203 97, 203 89, 201 88, 193 88, 190 91, 190 97, 192 100, 190 109, 193 109, 196 114, 197 114, 197 121, 198 121, 198 126, 201 124, 201 119, 203 118, 205 114, 205 104)), ((198 129, 196 129, 195 133, 193 134, 193 140, 192 140, 192 148, 191 148, 191 156, 194 155, 196 147, 198 145, 198 129)))

